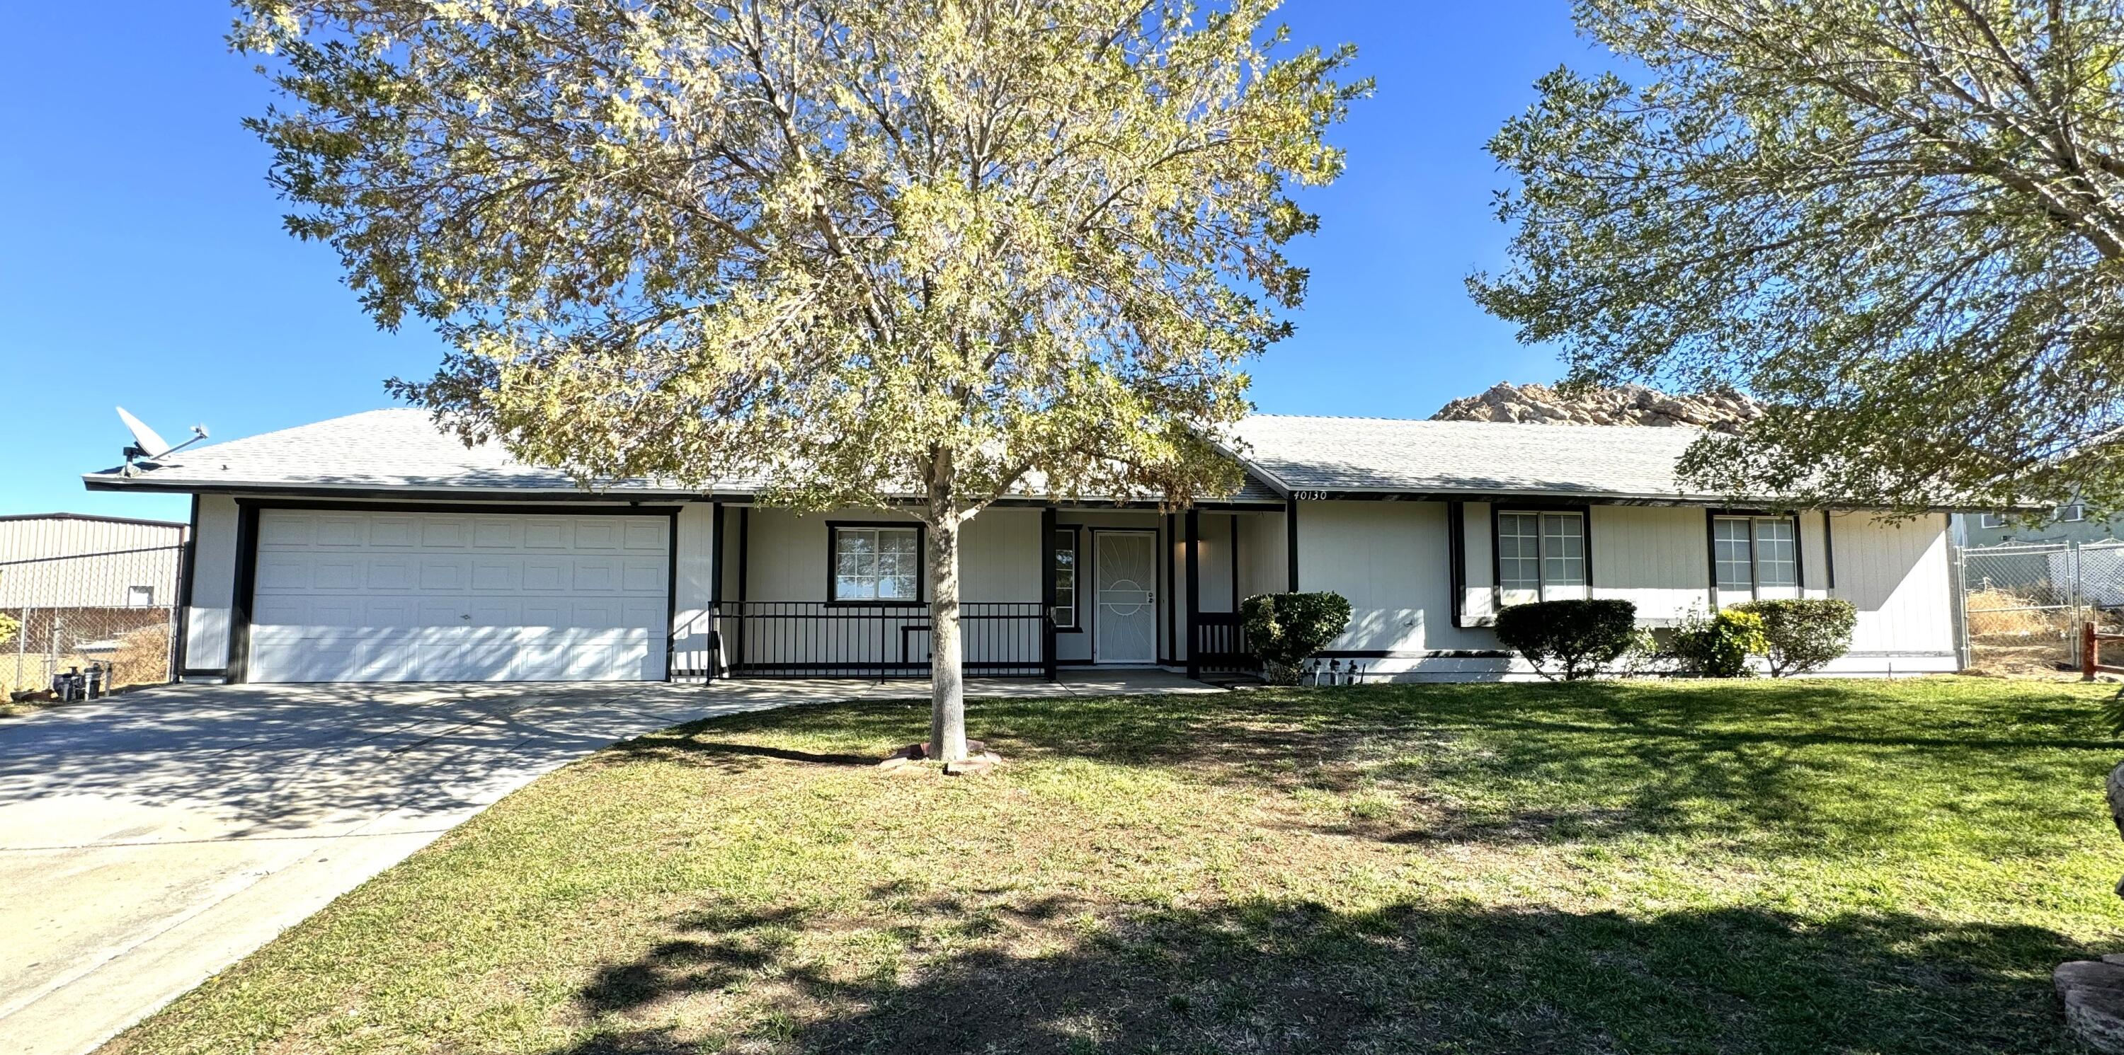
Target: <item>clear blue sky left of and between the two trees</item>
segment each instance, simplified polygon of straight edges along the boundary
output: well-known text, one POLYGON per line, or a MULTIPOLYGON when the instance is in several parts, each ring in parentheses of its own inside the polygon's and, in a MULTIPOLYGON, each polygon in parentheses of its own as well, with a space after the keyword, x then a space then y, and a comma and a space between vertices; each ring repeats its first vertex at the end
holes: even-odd
MULTIPOLYGON (((1461 280, 1504 259, 1483 142, 1542 72, 1601 64, 1565 0, 1291 0, 1285 19, 1304 42, 1355 42, 1378 96, 1336 134, 1349 174, 1308 200, 1313 293, 1255 363, 1255 403, 1421 418, 1553 380, 1555 354, 1514 344, 1461 280)), ((227 23, 215 0, 8 15, 36 47, 0 64, 0 514, 183 518, 181 497, 81 488, 119 461, 113 405, 170 439, 193 422, 227 439, 387 405, 382 378, 440 361, 423 329, 378 331, 327 248, 282 234, 266 151, 238 125, 266 83, 223 47, 227 23)))

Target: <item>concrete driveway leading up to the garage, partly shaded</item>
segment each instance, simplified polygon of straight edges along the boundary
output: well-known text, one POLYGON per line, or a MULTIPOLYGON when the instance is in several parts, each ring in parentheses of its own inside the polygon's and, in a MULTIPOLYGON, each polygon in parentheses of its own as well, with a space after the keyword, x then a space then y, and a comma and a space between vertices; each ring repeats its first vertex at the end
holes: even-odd
POLYGON ((170 686, 0 722, 0 1053, 93 1049, 586 751, 835 696, 170 686))

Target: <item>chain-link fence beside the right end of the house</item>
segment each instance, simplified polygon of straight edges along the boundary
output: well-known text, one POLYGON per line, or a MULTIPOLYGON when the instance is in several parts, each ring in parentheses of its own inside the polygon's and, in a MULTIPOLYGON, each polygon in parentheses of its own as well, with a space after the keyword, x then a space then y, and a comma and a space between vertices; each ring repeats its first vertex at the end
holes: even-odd
POLYGON ((2079 624, 2124 624, 2124 541, 1965 548, 1956 565, 1973 671, 2077 671, 2079 624))

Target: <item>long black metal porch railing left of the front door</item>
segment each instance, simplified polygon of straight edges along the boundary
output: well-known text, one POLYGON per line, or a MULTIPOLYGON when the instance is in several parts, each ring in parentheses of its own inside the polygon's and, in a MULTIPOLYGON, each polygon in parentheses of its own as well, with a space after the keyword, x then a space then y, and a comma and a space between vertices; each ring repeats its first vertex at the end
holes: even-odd
MULTIPOLYGON (((1054 624, 1039 601, 958 607, 969 677, 1054 677, 1054 624)), ((716 643, 731 677, 928 677, 924 603, 724 601, 716 643)))

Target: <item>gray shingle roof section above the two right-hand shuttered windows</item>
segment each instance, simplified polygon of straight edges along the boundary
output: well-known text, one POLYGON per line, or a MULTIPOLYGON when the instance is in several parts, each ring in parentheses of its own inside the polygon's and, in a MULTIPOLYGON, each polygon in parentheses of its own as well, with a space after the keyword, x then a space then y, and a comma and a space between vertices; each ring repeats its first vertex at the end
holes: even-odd
POLYGON ((1714 499, 1674 480, 1684 427, 1257 414, 1243 456, 1289 490, 1714 499))

